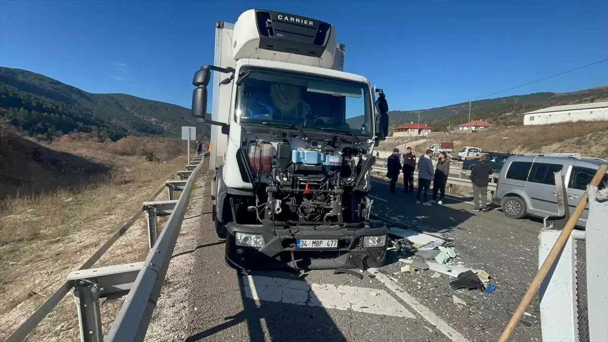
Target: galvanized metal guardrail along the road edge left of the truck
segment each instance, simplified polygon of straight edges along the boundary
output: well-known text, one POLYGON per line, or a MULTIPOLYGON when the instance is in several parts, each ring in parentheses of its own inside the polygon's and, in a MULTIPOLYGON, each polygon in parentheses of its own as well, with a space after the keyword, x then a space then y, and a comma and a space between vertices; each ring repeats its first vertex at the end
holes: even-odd
POLYGON ((184 171, 178 172, 179 181, 168 180, 156 193, 143 203, 131 219, 116 231, 77 271, 69 273, 65 282, 29 318, 5 340, 23 341, 33 329, 74 288, 78 309, 80 340, 104 341, 99 299, 125 299, 105 341, 143 341, 150 318, 160 296, 167 275, 171 254, 177 242, 182 220, 190 200, 190 193, 202 164, 209 152, 196 156, 184 171), (168 189, 168 201, 154 201, 163 189, 168 189), (181 191, 179 200, 174 192, 181 191), (100 268, 90 268, 136 222, 142 212, 148 218, 148 246, 150 253, 144 262, 128 263, 100 268), (157 236, 156 217, 168 215, 161 234, 157 236))

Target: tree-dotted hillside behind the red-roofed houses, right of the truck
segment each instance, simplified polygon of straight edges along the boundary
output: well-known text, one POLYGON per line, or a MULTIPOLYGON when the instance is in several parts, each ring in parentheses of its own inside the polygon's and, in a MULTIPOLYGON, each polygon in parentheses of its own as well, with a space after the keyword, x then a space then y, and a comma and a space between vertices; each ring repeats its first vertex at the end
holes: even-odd
MULTIPOLYGON (((387 96, 390 106, 390 97, 387 96)), ((608 86, 597 86, 573 92, 535 92, 527 95, 497 97, 496 99, 471 102, 471 120, 489 120, 498 125, 522 125, 522 114, 549 106, 570 103, 591 102, 608 99, 608 86)), ((389 124, 395 127, 416 122, 420 113, 420 123, 429 125, 434 131, 455 129, 469 120, 469 103, 429 108, 415 111, 389 111, 389 124), (452 126, 452 127, 449 127, 452 126)), ((363 117, 347 119, 351 127, 362 124, 363 117)))

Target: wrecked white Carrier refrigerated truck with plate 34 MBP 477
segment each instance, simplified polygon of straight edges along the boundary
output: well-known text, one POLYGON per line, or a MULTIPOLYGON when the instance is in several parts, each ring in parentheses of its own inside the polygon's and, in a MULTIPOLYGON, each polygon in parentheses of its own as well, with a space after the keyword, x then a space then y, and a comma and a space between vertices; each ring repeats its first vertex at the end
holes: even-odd
POLYGON ((388 104, 342 71, 344 51, 336 28, 316 19, 247 10, 217 22, 215 63, 196 71, 192 114, 212 125, 213 218, 231 267, 384 264, 387 231, 368 223, 368 192, 388 104))

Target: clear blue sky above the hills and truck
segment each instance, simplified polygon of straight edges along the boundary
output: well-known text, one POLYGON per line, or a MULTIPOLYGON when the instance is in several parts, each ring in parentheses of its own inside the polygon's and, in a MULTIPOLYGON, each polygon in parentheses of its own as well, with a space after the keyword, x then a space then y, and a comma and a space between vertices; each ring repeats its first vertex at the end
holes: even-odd
MULTIPOLYGON (((2 1, 0 65, 189 108, 194 72, 213 63, 215 21, 252 8, 336 26, 345 71, 384 88, 391 110, 464 102, 608 58, 608 1, 2 1)), ((606 84, 608 62, 497 96, 606 84)))

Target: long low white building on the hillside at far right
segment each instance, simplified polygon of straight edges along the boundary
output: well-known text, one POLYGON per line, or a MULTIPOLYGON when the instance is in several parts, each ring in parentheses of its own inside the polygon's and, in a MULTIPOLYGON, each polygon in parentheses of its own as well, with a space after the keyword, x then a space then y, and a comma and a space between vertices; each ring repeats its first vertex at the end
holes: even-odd
POLYGON ((608 121, 608 101, 553 106, 523 114, 524 125, 547 125, 572 121, 608 121))

